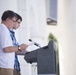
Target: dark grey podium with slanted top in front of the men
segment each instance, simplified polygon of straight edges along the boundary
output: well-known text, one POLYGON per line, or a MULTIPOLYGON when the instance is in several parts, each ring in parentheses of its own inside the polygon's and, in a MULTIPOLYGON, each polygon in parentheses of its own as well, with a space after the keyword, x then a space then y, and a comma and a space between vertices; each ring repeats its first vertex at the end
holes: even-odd
POLYGON ((24 59, 30 64, 37 62, 38 75, 56 75, 56 45, 53 40, 47 46, 27 52, 24 59))

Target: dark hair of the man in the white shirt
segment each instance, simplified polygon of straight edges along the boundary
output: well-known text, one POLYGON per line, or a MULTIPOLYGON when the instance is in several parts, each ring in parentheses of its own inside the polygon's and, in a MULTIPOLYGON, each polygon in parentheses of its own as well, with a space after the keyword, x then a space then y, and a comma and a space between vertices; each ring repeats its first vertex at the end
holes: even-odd
POLYGON ((17 15, 14 13, 14 11, 11 10, 6 10, 4 11, 4 13, 2 14, 1 20, 5 21, 7 18, 12 19, 13 17, 17 18, 17 15))

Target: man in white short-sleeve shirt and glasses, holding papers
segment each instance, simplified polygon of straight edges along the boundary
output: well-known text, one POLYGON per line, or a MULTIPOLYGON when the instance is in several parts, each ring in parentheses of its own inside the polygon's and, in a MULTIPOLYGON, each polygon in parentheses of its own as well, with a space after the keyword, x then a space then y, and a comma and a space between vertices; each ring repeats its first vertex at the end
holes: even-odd
POLYGON ((0 24, 0 75, 13 75, 15 52, 23 51, 28 46, 21 44, 14 46, 9 29, 13 29, 16 23, 17 16, 11 11, 7 10, 2 14, 0 24))

